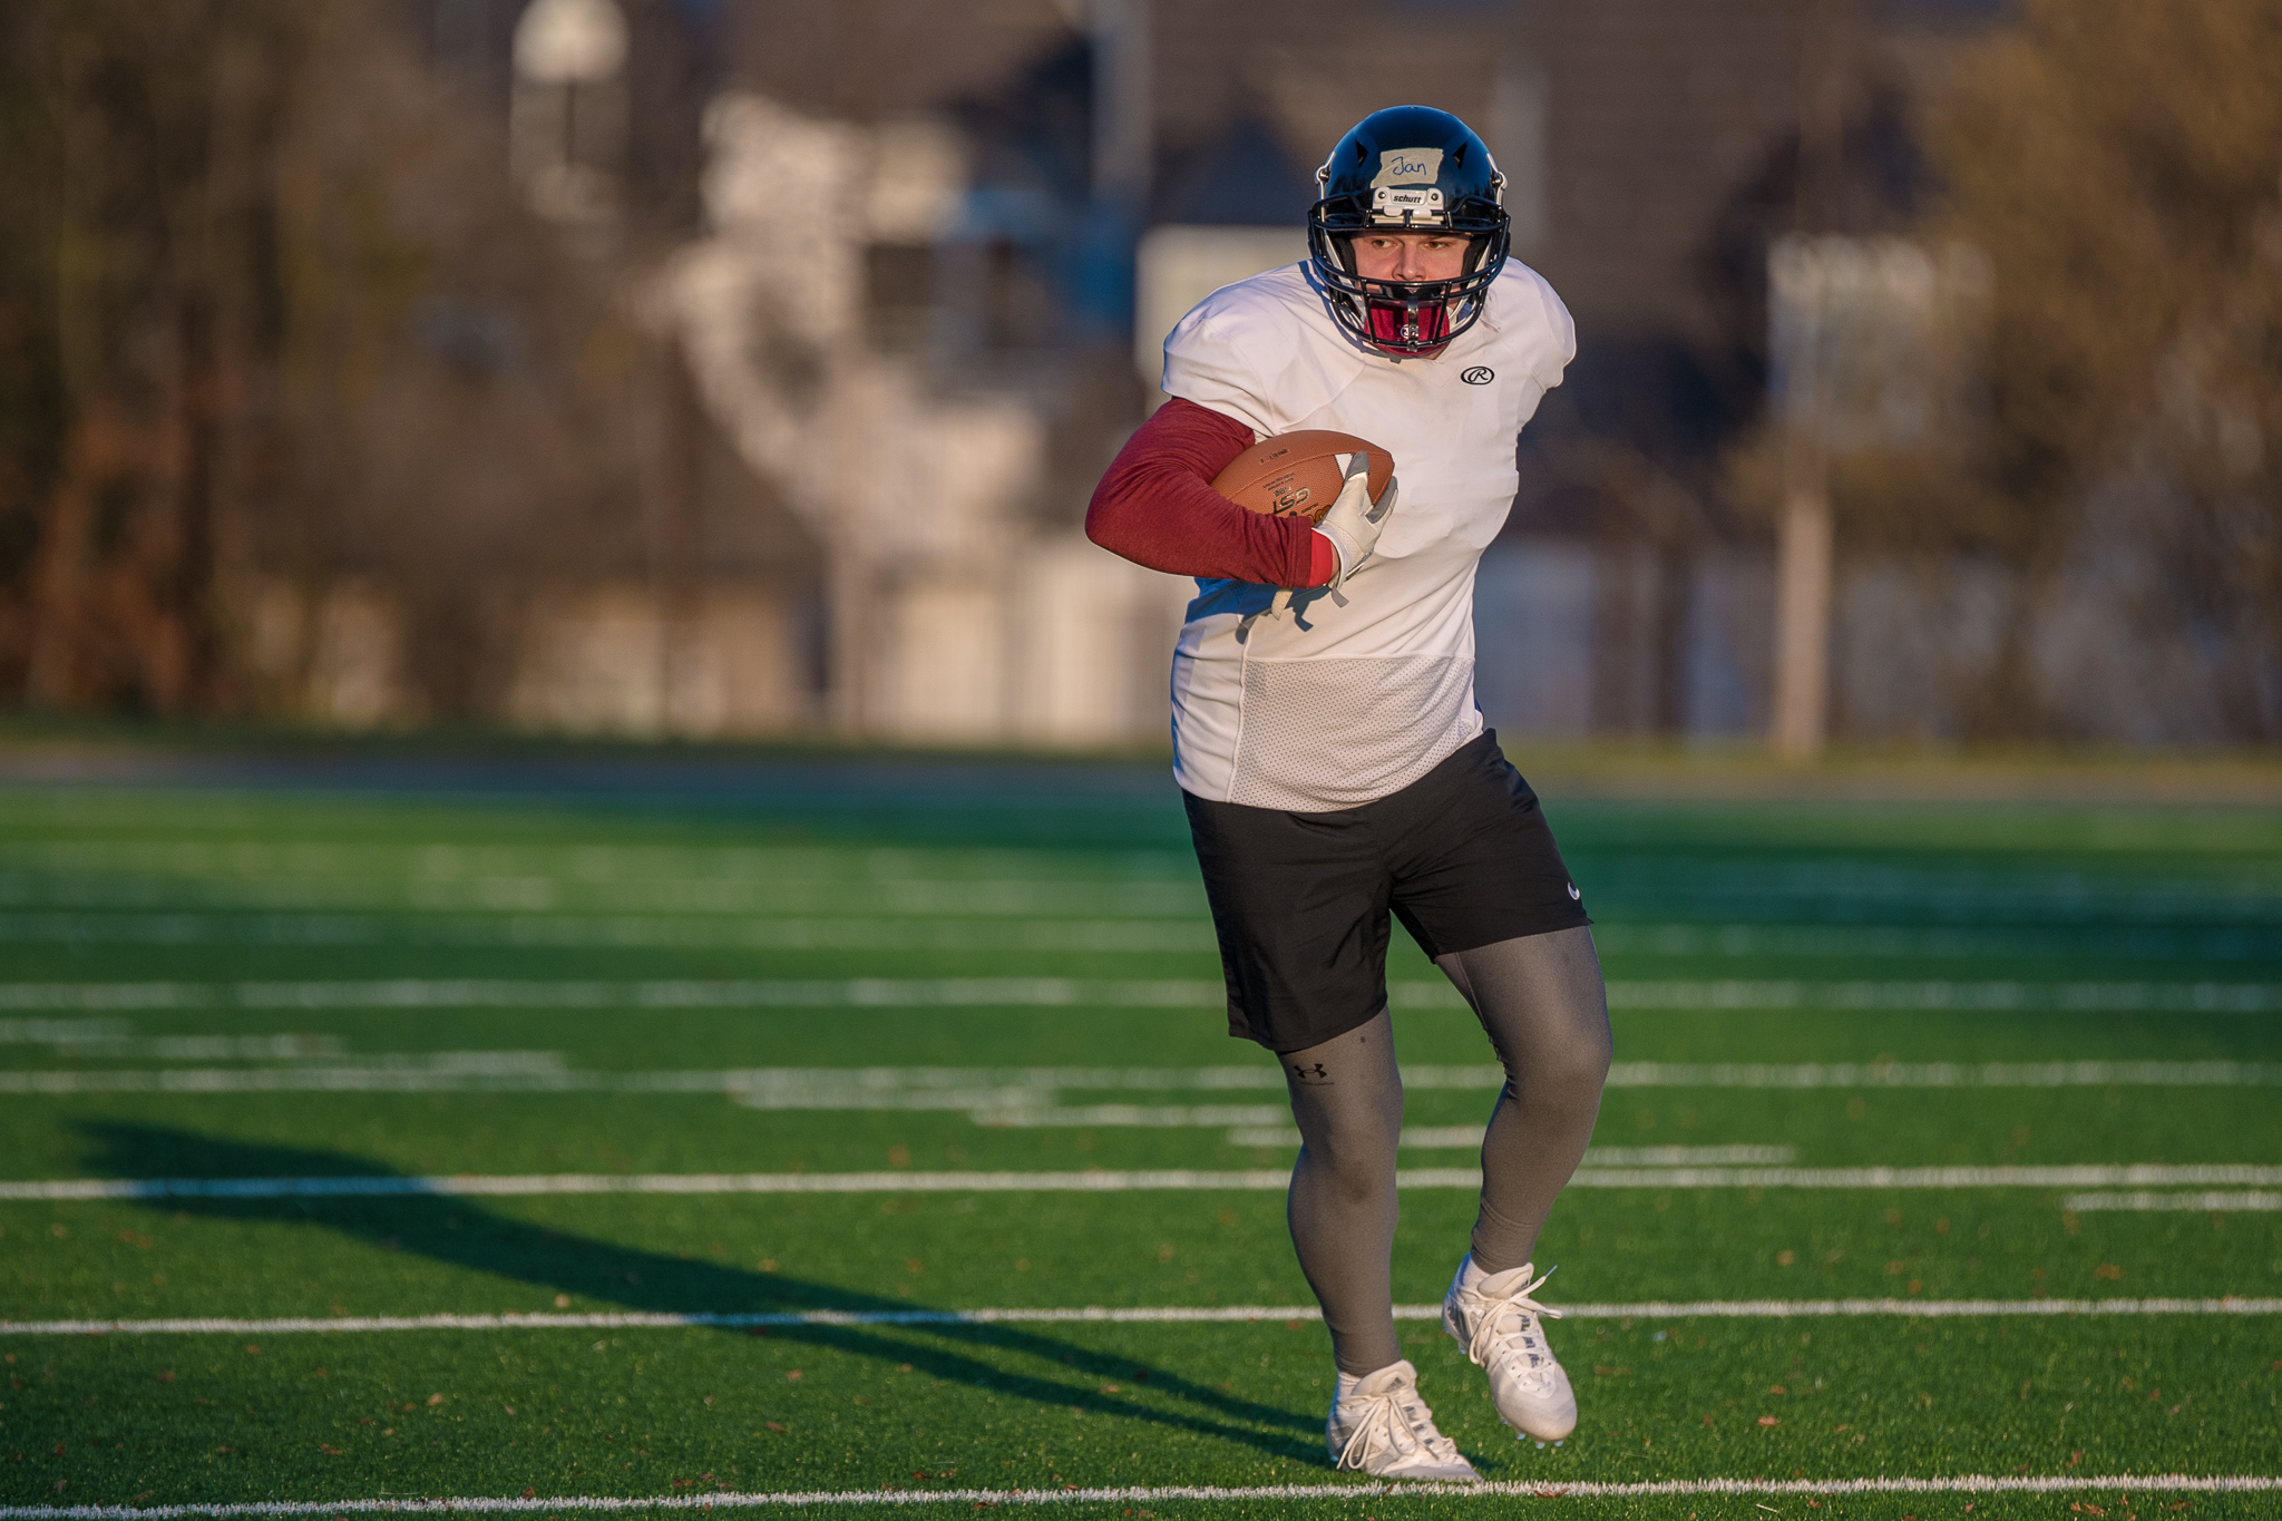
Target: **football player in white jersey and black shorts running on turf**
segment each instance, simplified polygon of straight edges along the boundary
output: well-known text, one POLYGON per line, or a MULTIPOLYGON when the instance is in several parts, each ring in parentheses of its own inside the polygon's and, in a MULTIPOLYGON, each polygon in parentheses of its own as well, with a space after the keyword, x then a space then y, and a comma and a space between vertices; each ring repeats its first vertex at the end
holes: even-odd
POLYGON ((1342 1469, 1472 1480, 1394 1336, 1387 914, 1481 1017, 1506 1083, 1442 1325, 1522 1437, 1577 1425, 1534 1295, 1538 1231, 1584 1156, 1609 1012, 1584 901, 1538 798, 1474 707, 1474 566, 1518 486, 1515 436, 1575 356, 1568 308, 1506 255, 1504 176, 1449 112, 1356 123, 1317 171, 1310 258, 1239 280, 1164 344, 1168 401, 1102 477, 1086 531, 1191 575, 1173 771, 1228 974, 1228 1026, 1285 1067, 1289 1225, 1330 1329, 1342 1469), (1262 438, 1337 429, 1365 458, 1314 527, 1209 481, 1262 438))

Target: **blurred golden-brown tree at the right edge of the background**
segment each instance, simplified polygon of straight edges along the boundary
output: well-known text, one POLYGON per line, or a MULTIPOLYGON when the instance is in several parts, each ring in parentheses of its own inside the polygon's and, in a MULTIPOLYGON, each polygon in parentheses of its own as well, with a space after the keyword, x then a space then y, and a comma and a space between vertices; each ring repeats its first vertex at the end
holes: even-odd
POLYGON ((2282 0, 2024 9, 1931 135, 1935 230, 1994 271, 1985 426, 1876 515, 2024 572, 1978 730, 2049 723, 2042 597, 2122 547, 2120 611, 2211 652, 2232 737, 2282 739, 2282 0))

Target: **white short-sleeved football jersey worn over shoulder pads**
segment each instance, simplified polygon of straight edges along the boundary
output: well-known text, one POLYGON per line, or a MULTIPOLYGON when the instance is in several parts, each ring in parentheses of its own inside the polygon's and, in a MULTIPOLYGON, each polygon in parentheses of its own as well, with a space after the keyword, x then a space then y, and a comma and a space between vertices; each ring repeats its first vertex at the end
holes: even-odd
POLYGON ((1367 438, 1401 481, 1344 593, 1196 584, 1173 652, 1182 789, 1303 814, 1360 807, 1481 734, 1474 566, 1520 486, 1515 438, 1575 356, 1561 296, 1515 260, 1438 358, 1362 347, 1305 262, 1216 290, 1180 319, 1164 342, 1168 395, 1260 438, 1367 438))

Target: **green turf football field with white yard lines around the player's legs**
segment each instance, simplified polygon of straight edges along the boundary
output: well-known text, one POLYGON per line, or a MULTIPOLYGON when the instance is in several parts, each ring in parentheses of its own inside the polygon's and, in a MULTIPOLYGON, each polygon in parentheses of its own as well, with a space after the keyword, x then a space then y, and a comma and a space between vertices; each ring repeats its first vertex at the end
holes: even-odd
MULTIPOLYGON (((0 789, 0 1516, 1524 1505, 1324 1457, 1296 1140, 1171 782, 685 780, 0 789)), ((1618 1038, 1538 1254, 1577 1437, 1515 1443, 1403 1323, 1486 1475, 1577 1516, 2282 1514, 2120 1482, 2282 1475, 2282 816, 1547 807, 1618 1038), (1969 1475, 2093 1487, 1848 1489, 1969 1475), (1636 1482, 1677 1487, 1593 1489, 1636 1482)), ((1397 942, 1429 1307, 1495 1069, 1397 942)))

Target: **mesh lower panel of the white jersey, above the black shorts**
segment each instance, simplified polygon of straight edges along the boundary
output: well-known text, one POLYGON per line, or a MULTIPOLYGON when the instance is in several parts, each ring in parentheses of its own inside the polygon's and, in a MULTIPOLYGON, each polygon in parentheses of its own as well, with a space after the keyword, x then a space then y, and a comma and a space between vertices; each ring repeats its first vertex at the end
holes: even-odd
POLYGON ((1474 661, 1255 659, 1228 800, 1294 814, 1401 791, 1474 737, 1474 661), (1440 730, 1440 734, 1438 734, 1440 730))

